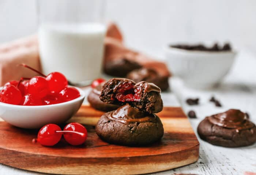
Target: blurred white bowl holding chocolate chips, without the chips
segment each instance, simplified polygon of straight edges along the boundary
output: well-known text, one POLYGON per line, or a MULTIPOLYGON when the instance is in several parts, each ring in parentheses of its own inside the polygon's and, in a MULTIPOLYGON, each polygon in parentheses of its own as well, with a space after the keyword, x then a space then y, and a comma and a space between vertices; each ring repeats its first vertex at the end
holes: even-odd
POLYGON ((164 50, 169 70, 193 88, 214 87, 229 72, 236 56, 235 51, 189 51, 169 45, 164 50))

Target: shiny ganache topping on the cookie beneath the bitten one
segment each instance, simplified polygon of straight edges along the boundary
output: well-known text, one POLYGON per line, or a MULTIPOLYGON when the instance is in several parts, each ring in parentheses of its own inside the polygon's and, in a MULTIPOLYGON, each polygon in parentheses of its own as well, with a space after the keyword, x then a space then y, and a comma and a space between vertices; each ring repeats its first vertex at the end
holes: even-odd
POLYGON ((154 114, 139 111, 129 104, 119 107, 116 111, 109 112, 107 117, 124 124, 154 122, 156 119, 154 114))

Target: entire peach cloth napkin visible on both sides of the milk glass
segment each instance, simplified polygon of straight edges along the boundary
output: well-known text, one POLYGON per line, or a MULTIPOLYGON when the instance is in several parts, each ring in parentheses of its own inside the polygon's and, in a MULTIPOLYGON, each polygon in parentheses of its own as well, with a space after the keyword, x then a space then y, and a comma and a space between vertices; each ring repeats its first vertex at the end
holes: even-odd
MULTIPOLYGON (((120 30, 114 23, 110 23, 105 38, 104 62, 123 57, 138 61, 144 67, 153 68, 163 76, 170 76, 164 63, 126 48, 120 30)), ((30 65, 37 70, 41 69, 37 35, 0 45, 0 85, 11 80, 19 80, 20 77, 36 75, 35 72, 29 69, 17 66, 21 63, 30 65)))

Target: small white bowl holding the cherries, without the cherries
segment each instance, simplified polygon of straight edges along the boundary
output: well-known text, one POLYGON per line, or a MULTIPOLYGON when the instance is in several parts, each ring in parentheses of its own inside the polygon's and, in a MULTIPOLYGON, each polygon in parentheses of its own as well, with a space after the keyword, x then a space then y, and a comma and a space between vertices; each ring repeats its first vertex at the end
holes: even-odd
POLYGON ((16 127, 35 129, 48 123, 64 123, 70 119, 83 103, 85 93, 68 102, 44 106, 20 106, 0 102, 0 118, 16 127))

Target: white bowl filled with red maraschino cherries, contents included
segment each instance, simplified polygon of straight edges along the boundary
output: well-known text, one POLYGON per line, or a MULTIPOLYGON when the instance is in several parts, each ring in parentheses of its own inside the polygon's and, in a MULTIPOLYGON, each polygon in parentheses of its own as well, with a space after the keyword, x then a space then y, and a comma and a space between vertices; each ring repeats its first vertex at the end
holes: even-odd
POLYGON ((64 123, 83 103, 85 93, 69 86, 60 72, 48 75, 21 64, 40 76, 9 81, 0 91, 0 118, 20 128, 41 128, 48 123, 64 123))

